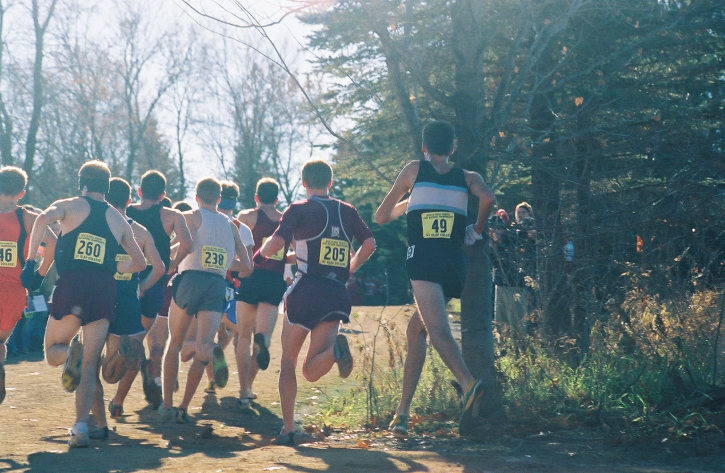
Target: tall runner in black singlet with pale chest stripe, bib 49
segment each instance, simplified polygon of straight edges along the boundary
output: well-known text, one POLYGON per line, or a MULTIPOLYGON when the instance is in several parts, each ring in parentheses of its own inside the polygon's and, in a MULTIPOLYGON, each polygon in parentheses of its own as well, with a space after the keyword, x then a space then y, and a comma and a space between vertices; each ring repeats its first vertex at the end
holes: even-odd
POLYGON ((455 132, 443 121, 434 121, 423 129, 424 160, 408 163, 398 175, 377 212, 378 224, 389 222, 405 211, 408 219, 408 258, 406 269, 413 287, 417 313, 408 330, 408 355, 403 375, 403 396, 391 423, 398 436, 408 432, 410 402, 425 362, 425 332, 441 359, 461 385, 463 411, 459 432, 467 434, 478 415, 478 400, 483 395, 480 380, 468 371, 446 314, 446 300, 460 297, 466 278, 466 257, 461 250, 482 238, 484 225, 496 197, 481 176, 454 167, 455 132), (410 192, 407 201, 401 199, 410 192), (478 197, 476 223, 466 227, 468 196, 478 197))

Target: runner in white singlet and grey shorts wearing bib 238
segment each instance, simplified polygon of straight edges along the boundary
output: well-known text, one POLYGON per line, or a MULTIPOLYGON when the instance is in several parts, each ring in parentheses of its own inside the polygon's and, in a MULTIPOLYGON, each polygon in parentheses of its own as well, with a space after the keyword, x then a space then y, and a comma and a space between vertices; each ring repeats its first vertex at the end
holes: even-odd
MULTIPOLYGON (((221 184, 205 178, 196 185, 199 209, 186 212, 184 217, 192 235, 192 249, 179 265, 173 281, 173 301, 169 310, 169 343, 164 354, 163 417, 176 422, 188 422, 186 406, 172 407, 173 392, 179 373, 179 354, 192 317, 197 318, 195 358, 189 370, 189 380, 201 379, 203 366, 213 363, 214 383, 223 388, 229 378, 224 351, 214 343, 222 311, 228 297, 225 276, 236 254, 241 261, 240 273, 252 270, 247 250, 239 231, 226 215, 217 212, 221 184)), ((189 384, 189 383, 187 383, 189 384)))

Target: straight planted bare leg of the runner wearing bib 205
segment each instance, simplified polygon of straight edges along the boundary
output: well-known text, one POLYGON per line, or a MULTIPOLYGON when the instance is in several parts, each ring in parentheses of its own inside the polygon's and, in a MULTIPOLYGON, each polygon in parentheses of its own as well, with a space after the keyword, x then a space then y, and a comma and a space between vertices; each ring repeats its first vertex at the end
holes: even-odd
POLYGON ((307 330, 292 325, 285 317, 282 326, 282 365, 279 371, 279 400, 284 425, 282 433, 295 430, 295 398, 297 397, 297 356, 307 338, 307 330))

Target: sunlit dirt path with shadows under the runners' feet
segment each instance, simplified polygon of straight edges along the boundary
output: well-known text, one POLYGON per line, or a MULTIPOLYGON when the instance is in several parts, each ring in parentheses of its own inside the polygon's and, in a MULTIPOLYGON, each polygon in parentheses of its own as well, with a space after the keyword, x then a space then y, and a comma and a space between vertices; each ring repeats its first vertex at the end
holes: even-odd
MULTIPOLYGON (((369 341, 380 308, 355 308, 351 336, 369 341)), ((385 316, 404 328, 407 308, 387 308, 385 316)), ((278 327, 279 328, 279 327, 278 327)), ((306 348, 303 349, 302 355, 306 348)), ((232 348, 226 350, 232 359, 232 348)), ((276 392, 280 356, 279 330, 272 361, 255 383, 259 399, 253 413, 235 408, 239 387, 236 370, 226 389, 191 403, 193 423, 163 423, 145 403, 140 380, 126 400, 125 416, 110 420, 110 439, 93 441, 89 449, 69 450, 73 395, 60 385, 60 369, 49 367, 40 354, 10 359, 7 398, 0 405, 0 471, 29 472, 696 472, 724 471, 722 446, 706 457, 683 455, 651 445, 613 446, 599 433, 560 432, 504 436, 484 443, 414 438, 404 442, 376 438, 360 442, 355 433, 334 433, 324 442, 296 448, 270 445, 281 426, 276 392)), ((233 364, 232 364, 233 366, 233 364)), ((187 365, 182 365, 181 388, 187 365)), ((316 389, 333 392, 344 386, 333 373, 314 385, 298 379, 298 410, 315 408, 316 389)), ((350 381, 354 382, 354 381, 350 381)), ((205 383, 204 383, 205 385, 205 383)), ((202 386, 203 388, 203 386, 202 386)), ((115 386, 105 385, 106 400, 115 386)), ((177 394, 180 399, 180 393, 177 394)), ((106 401, 107 402, 107 401, 106 401)))

